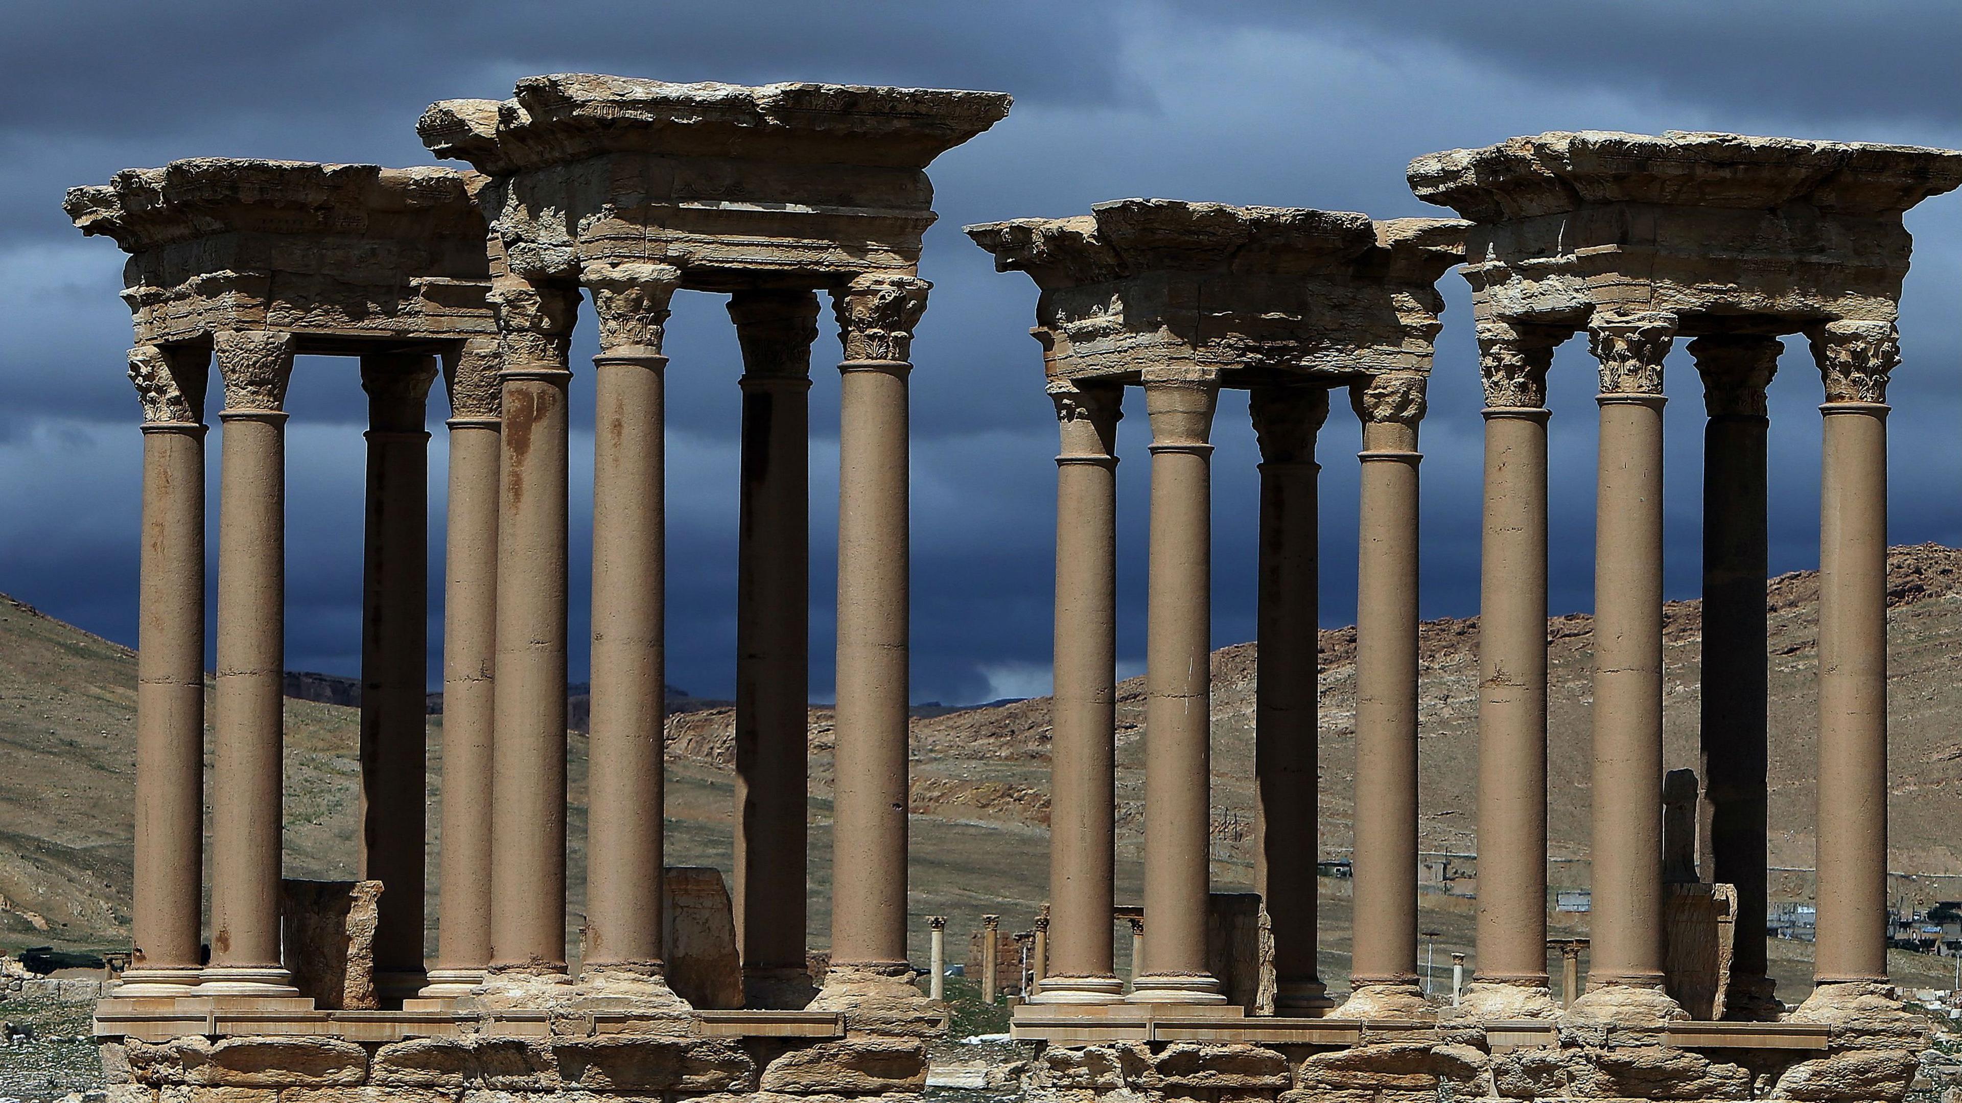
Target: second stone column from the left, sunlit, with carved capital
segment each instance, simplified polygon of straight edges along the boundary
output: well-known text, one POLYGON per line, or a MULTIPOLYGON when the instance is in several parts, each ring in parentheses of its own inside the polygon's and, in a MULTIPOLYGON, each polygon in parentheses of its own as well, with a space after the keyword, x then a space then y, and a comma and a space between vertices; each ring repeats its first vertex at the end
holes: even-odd
POLYGON ((279 962, 286 669, 286 379, 292 334, 214 338, 226 385, 218 499, 212 964, 200 995, 298 995, 279 962))

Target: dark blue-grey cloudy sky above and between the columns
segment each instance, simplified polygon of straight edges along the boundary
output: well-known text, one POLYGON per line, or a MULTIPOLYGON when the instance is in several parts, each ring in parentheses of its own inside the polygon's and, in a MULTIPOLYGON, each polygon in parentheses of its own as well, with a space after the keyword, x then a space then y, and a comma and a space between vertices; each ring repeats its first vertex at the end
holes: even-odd
MULTIPOLYGON (((14 0, 0 37, 0 591, 135 636, 139 434, 124 379, 122 253, 61 214, 71 184, 175 157, 416 165, 438 98, 532 73, 997 88, 1014 112, 932 169, 936 283, 914 343, 914 701, 1048 691, 1056 430, 1026 330, 1036 300, 959 226, 1165 196, 1444 214, 1405 163, 1542 130, 1729 130, 1962 147, 1962 8, 1938 0, 361 2, 14 0)), ((1962 542, 1962 196, 1909 214, 1915 267, 1891 391, 1893 542, 1962 542)), ((1477 608, 1479 393, 1464 281, 1442 281, 1424 424, 1426 616, 1477 608)), ((814 351, 812 693, 830 695, 836 340, 814 351)), ((591 355, 591 318, 575 369, 591 355)), ((716 298, 669 326, 669 679, 734 683, 738 355, 716 298)), ((1701 396, 1672 359, 1668 591, 1693 597, 1701 396)), ((1593 363, 1556 359, 1552 608, 1591 604, 1593 363)), ((1772 387, 1772 567, 1817 565, 1819 402, 1803 343, 1772 387)), ((573 640, 585 673, 591 371, 575 383, 573 640), (581 485, 585 483, 585 485, 581 485)), ((361 430, 353 361, 302 359, 288 398, 288 665, 359 667, 361 430)), ((441 398, 432 514, 441 538, 441 398)), ((1144 659, 1146 455, 1122 430, 1120 661, 1144 659)), ((1322 618, 1354 618, 1356 422, 1322 434, 1322 618)), ((1254 632, 1256 453, 1214 430, 1214 644, 1254 632)), ((212 471, 216 489, 216 446, 212 471)), ((216 514, 216 499, 214 499, 216 514)), ((434 563, 432 563, 434 567, 434 563)), ((432 583, 439 573, 432 569, 432 583)), ((432 587, 439 593, 439 585, 432 587)), ((441 610, 432 608, 432 648, 441 610)), ((439 669, 432 659, 432 671, 439 669)))

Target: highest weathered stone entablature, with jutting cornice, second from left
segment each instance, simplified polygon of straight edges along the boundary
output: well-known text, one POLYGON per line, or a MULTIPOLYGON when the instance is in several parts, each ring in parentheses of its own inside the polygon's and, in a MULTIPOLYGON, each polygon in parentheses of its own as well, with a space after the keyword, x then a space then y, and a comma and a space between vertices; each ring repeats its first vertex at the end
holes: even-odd
POLYGON ((549 75, 443 100, 438 157, 489 173, 487 210, 532 281, 657 263, 681 287, 836 287, 912 275, 934 222, 926 165, 1008 114, 1003 92, 673 84, 549 75))

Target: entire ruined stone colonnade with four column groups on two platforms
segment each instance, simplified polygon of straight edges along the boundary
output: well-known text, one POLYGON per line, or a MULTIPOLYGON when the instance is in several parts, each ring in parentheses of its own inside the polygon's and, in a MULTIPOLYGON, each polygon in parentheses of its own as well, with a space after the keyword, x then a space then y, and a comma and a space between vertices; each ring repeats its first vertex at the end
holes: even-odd
MULTIPOLYGON (((118 1103, 922 1091, 926 1042, 946 1030, 906 954, 906 375, 928 292, 924 169, 1007 108, 995 92, 536 77, 512 100, 422 118, 428 147, 471 173, 204 159, 69 194, 82 232, 129 253, 145 416, 137 960, 96 1013, 118 1103), (645 875, 663 869, 661 338, 679 289, 730 294, 744 349, 730 889, 714 871, 645 875), (612 428, 594 455, 593 899, 575 956, 567 379, 583 290, 612 428), (820 290, 844 343, 828 952, 804 944, 802 811, 804 394, 820 290), (371 394, 363 850, 357 883, 283 887, 283 402, 296 353, 357 355, 371 394), (226 422, 224 799, 200 962, 210 363, 226 422), (449 799, 426 964, 422 426, 438 371, 451 412, 449 799)), ((1040 289, 1034 336, 1063 446, 1056 899, 1032 934, 1038 989, 1014 1015, 1014 1036, 1036 1044, 1024 1089, 1899 1101, 1923 1026, 1887 985, 1880 924, 1885 381, 1909 259, 1901 214, 1962 184, 1962 153, 1583 131, 1420 157, 1409 179, 1462 218, 1118 200, 967 230, 1040 289), (1475 975, 1462 1005, 1440 1007, 1415 983, 1417 438, 1442 332, 1434 283, 1450 267, 1473 289, 1485 385, 1481 834, 1475 975), (1591 975, 1562 1005, 1544 915, 1544 383, 1554 345, 1581 330, 1601 363, 1599 799, 1591 975), (1762 922, 1764 389, 1791 334, 1825 383, 1819 954, 1797 1007, 1766 979, 1762 922), (1660 410, 1678 336, 1693 338, 1709 410, 1705 769, 1701 785, 1672 783, 1666 814, 1660 410), (1152 430, 1152 571, 1150 922, 1130 915, 1144 966, 1126 985, 1110 946, 1110 703, 1128 387, 1152 430), (1207 867, 1203 705, 1222 387, 1252 393, 1262 449, 1264 659, 1260 895, 1224 911, 1207 867), (1336 389, 1364 461, 1348 993, 1328 993, 1315 966, 1315 444, 1336 389), (1699 822, 1701 869, 1681 850, 1699 822)), ((1579 948, 1562 956, 1572 970, 1579 948)))

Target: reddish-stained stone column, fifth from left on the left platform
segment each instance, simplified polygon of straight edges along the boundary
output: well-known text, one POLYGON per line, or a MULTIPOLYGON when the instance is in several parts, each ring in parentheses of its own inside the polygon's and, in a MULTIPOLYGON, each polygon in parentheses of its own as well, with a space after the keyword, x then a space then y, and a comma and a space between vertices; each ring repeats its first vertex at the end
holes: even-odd
POLYGON ((565 975, 567 369, 579 289, 492 283, 504 345, 498 465, 490 972, 498 989, 565 975))

